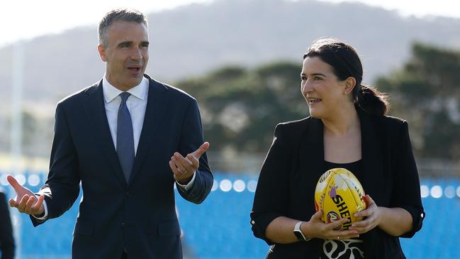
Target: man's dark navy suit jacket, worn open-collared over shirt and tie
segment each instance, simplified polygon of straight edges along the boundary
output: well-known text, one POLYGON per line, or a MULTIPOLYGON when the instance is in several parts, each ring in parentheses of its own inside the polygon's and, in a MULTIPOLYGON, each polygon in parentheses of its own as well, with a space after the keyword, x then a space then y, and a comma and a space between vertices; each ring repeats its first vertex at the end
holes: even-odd
MULTIPOLYGON (((48 219, 83 198, 74 228, 72 258, 182 258, 174 178, 174 152, 191 153, 203 143, 196 99, 149 79, 147 108, 130 181, 125 182, 108 127, 101 82, 57 104, 50 172, 45 194, 48 219)), ((211 191, 206 154, 193 187, 179 194, 199 204, 211 191)), ((43 224, 31 217, 34 226, 43 224)))

